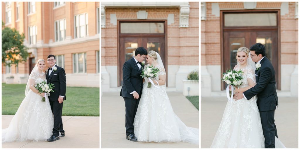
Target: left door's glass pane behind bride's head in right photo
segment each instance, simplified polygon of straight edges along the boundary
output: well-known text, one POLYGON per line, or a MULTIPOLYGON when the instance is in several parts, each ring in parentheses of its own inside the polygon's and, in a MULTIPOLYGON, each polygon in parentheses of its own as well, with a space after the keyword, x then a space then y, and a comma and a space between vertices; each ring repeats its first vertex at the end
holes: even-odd
POLYGON ((226 70, 232 70, 237 64, 236 62, 236 52, 238 48, 245 46, 245 38, 229 38, 229 50, 230 50, 230 68, 226 70))

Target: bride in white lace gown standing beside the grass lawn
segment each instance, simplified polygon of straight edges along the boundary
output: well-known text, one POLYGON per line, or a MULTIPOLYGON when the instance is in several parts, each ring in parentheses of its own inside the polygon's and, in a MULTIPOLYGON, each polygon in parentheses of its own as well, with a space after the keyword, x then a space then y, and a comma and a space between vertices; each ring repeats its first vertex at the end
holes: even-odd
POLYGON ((37 83, 46 81, 44 73, 45 60, 39 59, 32 69, 25 89, 25 98, 22 101, 8 128, 2 129, 2 143, 13 141, 34 142, 46 141, 52 134, 53 114, 48 96, 42 102, 45 93, 38 93, 37 83))

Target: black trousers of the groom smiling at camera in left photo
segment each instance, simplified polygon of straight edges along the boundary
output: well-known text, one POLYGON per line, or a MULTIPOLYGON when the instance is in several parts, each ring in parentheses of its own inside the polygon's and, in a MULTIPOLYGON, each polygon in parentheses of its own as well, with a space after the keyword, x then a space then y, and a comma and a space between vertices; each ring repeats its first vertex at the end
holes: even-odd
POLYGON ((62 105, 64 103, 59 104, 58 101, 49 101, 51 110, 53 113, 53 118, 54 118, 54 124, 53 124, 53 135, 59 136, 59 132, 64 132, 64 128, 62 125, 62 119, 61 119, 61 114, 62 114, 62 105))

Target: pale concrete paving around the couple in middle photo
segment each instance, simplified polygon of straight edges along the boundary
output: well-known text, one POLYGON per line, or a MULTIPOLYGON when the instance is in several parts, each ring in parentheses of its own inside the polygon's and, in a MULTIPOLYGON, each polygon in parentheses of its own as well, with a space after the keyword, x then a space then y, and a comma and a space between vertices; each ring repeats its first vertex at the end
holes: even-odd
MULTIPOLYGON (((180 92, 167 92, 176 115, 188 127, 199 128, 199 111, 180 92)), ((199 148, 190 143, 140 143, 126 140, 125 102, 120 92, 101 98, 101 148, 199 148)))

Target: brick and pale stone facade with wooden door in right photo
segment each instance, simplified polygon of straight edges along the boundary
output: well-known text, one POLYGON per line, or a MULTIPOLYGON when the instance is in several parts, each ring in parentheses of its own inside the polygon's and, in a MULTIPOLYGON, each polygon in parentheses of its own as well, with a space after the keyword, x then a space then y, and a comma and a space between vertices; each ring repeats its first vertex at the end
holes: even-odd
POLYGON ((298 2, 201 2, 201 95, 223 90, 220 78, 236 64, 237 48, 258 42, 276 88, 298 96, 298 2))

